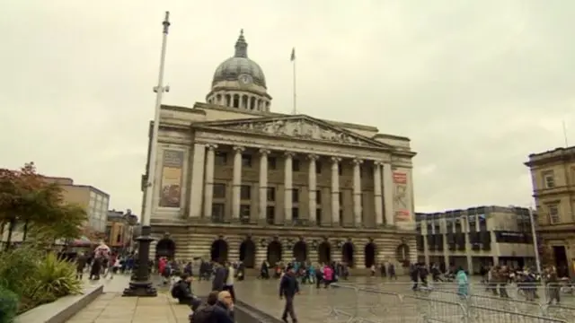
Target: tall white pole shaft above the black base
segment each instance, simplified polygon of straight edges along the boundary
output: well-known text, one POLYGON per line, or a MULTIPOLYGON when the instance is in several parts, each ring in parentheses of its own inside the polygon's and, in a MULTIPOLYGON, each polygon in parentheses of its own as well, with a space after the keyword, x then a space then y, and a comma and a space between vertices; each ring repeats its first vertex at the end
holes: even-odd
POLYGON ((144 214, 142 214, 142 226, 149 226, 152 215, 153 201, 154 201, 154 187, 155 187, 155 164, 156 164, 156 151, 157 151, 157 138, 160 130, 160 110, 162 109, 162 95, 164 92, 169 91, 169 87, 164 87, 164 65, 165 65, 165 49, 168 41, 168 29, 170 27, 170 12, 165 12, 165 19, 162 24, 164 25, 164 35, 162 37, 162 54, 160 55, 160 73, 158 74, 158 85, 155 86, 155 114, 154 114, 154 127, 152 129, 152 144, 150 144, 150 161, 147 170, 147 183, 146 183, 146 205, 144 214))

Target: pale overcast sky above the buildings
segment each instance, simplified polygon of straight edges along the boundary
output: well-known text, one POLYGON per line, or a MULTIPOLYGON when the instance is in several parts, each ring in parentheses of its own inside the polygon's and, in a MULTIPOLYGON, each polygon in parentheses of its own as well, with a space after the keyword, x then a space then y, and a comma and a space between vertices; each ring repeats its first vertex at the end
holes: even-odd
POLYGON ((161 22, 165 104, 204 101, 244 29, 271 109, 405 135, 418 212, 528 205, 529 153, 575 143, 575 2, 538 0, 99 1, 2 4, 0 167, 111 195, 140 212, 161 22))

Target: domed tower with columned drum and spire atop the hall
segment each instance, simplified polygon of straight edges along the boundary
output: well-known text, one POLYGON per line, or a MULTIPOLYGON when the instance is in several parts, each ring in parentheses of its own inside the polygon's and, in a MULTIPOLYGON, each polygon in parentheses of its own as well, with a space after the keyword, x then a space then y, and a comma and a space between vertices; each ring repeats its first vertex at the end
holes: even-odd
POLYGON ((269 112, 271 96, 260 65, 248 58, 248 44, 243 30, 235 42, 234 57, 217 66, 211 91, 206 96, 209 104, 235 109, 269 112))

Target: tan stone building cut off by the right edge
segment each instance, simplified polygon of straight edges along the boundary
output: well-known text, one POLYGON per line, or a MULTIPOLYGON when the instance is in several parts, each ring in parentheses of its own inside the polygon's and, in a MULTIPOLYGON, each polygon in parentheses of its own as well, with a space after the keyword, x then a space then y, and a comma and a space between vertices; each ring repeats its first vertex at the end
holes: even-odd
POLYGON ((531 171, 542 253, 564 274, 575 265, 575 146, 532 153, 531 171))

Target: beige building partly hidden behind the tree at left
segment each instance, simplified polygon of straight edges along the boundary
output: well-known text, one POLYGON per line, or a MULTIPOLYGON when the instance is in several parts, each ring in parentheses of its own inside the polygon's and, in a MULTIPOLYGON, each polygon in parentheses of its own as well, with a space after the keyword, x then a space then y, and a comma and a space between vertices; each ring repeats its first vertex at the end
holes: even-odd
MULTIPOLYGON (((86 225, 95 232, 104 232, 106 230, 106 219, 108 206, 110 205, 110 195, 101 189, 94 188, 90 185, 78 185, 73 179, 60 177, 45 177, 48 183, 55 183, 62 188, 64 202, 67 204, 81 205, 85 208, 88 215, 86 225)), ((18 224, 13 231, 12 241, 18 243, 22 241, 23 233, 22 224, 18 224)), ((8 232, 4 230, 2 241, 6 241, 8 232)))

